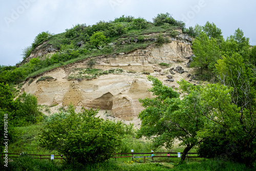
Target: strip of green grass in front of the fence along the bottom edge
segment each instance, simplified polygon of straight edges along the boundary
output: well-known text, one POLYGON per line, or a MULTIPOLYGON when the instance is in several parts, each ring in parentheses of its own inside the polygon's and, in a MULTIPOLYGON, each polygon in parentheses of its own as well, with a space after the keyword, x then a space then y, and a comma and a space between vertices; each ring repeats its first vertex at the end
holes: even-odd
MULTIPOLYGON (((0 169, 4 168, 3 162, 1 162, 0 169)), ((39 159, 31 159, 27 156, 15 158, 13 162, 9 162, 8 167, 5 170, 87 170, 87 171, 103 171, 103 170, 115 170, 115 171, 126 171, 126 170, 138 170, 138 171, 165 171, 165 170, 187 170, 187 171, 252 171, 254 168, 245 167, 243 164, 232 163, 232 162, 223 162, 218 160, 204 160, 202 162, 188 162, 181 165, 176 165, 174 163, 158 163, 158 162, 148 162, 148 163, 138 163, 138 162, 120 162, 114 161, 114 159, 110 159, 103 163, 95 163, 95 164, 87 164, 83 165, 73 165, 73 164, 65 164, 59 163, 51 160, 43 160, 39 159)))

